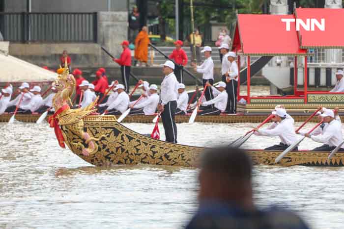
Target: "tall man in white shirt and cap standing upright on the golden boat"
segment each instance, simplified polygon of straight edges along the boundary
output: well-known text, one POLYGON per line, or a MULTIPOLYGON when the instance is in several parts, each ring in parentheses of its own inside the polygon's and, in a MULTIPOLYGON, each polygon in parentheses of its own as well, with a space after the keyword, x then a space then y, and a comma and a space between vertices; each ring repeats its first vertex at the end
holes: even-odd
POLYGON ((166 141, 177 143, 177 126, 175 125, 174 115, 177 109, 177 85, 178 81, 174 73, 174 64, 168 60, 163 65, 165 78, 161 83, 160 103, 158 110, 161 112, 161 118, 166 135, 166 141))

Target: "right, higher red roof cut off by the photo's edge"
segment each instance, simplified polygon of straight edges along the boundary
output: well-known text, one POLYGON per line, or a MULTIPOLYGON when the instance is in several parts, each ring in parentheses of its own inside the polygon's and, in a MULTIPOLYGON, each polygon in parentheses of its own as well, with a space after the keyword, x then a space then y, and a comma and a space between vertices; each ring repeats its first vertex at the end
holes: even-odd
POLYGON ((296 8, 295 17, 305 23, 306 19, 316 19, 319 23, 322 18, 325 19, 324 31, 316 26, 314 31, 306 31, 300 26, 298 34, 301 48, 344 48, 344 9, 296 8))

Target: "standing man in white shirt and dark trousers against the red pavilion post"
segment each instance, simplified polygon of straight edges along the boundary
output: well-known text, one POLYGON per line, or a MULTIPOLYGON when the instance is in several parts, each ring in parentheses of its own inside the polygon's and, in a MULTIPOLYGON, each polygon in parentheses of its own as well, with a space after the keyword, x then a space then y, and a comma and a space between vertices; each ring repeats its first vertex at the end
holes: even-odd
POLYGON ((229 61, 229 69, 226 75, 226 91, 228 94, 228 106, 227 110, 229 114, 236 113, 236 101, 237 101, 237 88, 239 79, 238 65, 235 62, 235 52, 230 51, 227 54, 227 59, 229 61))

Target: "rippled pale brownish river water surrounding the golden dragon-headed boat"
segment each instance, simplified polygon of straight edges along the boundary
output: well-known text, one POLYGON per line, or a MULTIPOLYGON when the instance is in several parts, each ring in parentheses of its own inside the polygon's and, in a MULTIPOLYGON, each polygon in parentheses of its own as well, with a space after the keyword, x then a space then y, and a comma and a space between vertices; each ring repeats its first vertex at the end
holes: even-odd
MULTIPOLYGON (((256 125, 178 124, 178 140, 202 147, 227 144, 256 125)), ((125 126, 140 133, 153 128, 125 126)), ((94 167, 60 149, 47 123, 0 124, 0 132, 0 229, 175 229, 185 226, 197 208, 196 169, 94 167)), ((244 147, 261 149, 278 140, 253 136, 244 147)), ((318 145, 305 140, 299 148, 318 145)), ((260 207, 288 206, 312 228, 342 229, 342 176, 344 168, 256 166, 255 199, 260 207)))

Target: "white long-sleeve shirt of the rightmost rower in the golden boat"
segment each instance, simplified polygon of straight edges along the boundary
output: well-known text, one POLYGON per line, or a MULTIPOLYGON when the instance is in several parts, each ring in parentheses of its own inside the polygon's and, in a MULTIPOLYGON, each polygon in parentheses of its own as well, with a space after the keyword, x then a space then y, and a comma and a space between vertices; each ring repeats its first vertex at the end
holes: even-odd
POLYGON ((325 125, 322 131, 320 129, 316 132, 313 131, 313 134, 311 135, 311 139, 313 141, 327 144, 330 147, 337 147, 339 144, 343 142, 342 124, 340 121, 335 119, 331 121, 328 125, 325 125))

